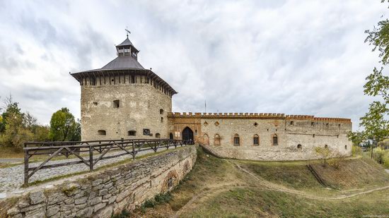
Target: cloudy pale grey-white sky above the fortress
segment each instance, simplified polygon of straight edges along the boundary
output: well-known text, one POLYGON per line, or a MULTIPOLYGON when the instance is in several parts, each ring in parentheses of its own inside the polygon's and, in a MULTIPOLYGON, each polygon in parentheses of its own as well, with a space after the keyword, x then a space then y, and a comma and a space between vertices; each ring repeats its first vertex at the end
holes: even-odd
POLYGON ((352 119, 373 99, 363 85, 378 53, 365 30, 380 0, 0 0, 0 100, 12 95, 47 124, 81 88, 69 75, 115 59, 129 39, 139 62, 178 95, 173 111, 307 114, 352 119))

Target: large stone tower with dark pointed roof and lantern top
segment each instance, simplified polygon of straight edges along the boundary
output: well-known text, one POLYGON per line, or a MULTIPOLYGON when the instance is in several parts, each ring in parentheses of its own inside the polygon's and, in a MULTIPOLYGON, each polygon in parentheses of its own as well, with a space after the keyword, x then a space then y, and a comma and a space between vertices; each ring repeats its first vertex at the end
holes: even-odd
POLYGON ((82 140, 169 138, 168 112, 177 92, 138 62, 127 39, 103 68, 71 75, 81 85, 82 140))

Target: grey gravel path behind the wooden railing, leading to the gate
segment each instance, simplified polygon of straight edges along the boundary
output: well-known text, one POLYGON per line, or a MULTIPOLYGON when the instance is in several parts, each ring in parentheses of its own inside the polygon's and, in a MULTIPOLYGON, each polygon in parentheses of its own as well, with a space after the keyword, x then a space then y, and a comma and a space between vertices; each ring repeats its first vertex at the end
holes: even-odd
MULTIPOLYGON (((166 150, 165 147, 158 148, 158 152, 166 150)), ((147 153, 154 152, 153 150, 146 150, 141 151, 138 153, 137 157, 141 155, 146 155, 147 153)), ((117 152, 110 152, 108 155, 115 155, 123 153, 123 151, 117 151, 117 152)), ((85 158, 85 157, 84 157, 85 158)), ((88 157, 86 157, 88 158, 88 157)), ((97 156, 95 156, 97 158, 97 156)), ((97 169, 100 166, 104 166, 106 164, 112 164, 115 162, 120 162, 124 159, 131 159, 132 155, 122 155, 120 157, 115 157, 111 159, 103 159, 100 160, 94 167, 97 169)), ((78 158, 72 158, 72 159, 61 159, 61 160, 55 160, 50 161, 49 164, 59 164, 59 163, 65 163, 65 162, 71 162, 75 160, 80 160, 78 158)), ((31 163, 30 167, 33 166, 39 166, 42 162, 35 162, 31 163)), ((38 170, 32 177, 30 177, 30 183, 37 180, 45 180, 47 178, 52 178, 55 176, 62 176, 66 174, 74 174, 81 171, 88 171, 89 166, 86 166, 86 164, 74 164, 69 166, 59 166, 52 169, 41 169, 38 170)), ((6 168, 0 169, 0 198, 1 195, 8 192, 18 192, 20 187, 23 185, 24 181, 24 165, 17 165, 17 166, 10 166, 6 168)))

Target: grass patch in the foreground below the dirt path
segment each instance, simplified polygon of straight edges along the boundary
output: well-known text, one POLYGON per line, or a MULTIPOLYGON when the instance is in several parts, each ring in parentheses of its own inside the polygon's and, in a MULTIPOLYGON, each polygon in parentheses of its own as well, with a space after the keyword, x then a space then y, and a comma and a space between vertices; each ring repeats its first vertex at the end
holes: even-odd
POLYGON ((388 215, 389 191, 347 200, 312 200, 274 190, 233 188, 182 217, 362 217, 388 215))

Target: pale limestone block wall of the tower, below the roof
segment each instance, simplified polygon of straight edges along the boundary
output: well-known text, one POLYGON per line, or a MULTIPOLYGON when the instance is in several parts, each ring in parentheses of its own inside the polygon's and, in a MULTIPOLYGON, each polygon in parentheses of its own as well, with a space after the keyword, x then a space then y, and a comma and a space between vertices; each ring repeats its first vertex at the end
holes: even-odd
POLYGON ((158 134, 168 138, 167 114, 171 109, 171 97, 149 83, 82 85, 81 138, 156 138, 158 134), (119 100, 119 107, 115 100, 119 100), (152 136, 143 134, 145 128, 152 136), (136 133, 129 135, 129 131, 136 133))

